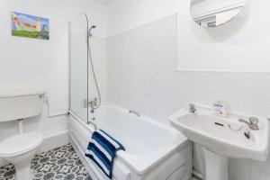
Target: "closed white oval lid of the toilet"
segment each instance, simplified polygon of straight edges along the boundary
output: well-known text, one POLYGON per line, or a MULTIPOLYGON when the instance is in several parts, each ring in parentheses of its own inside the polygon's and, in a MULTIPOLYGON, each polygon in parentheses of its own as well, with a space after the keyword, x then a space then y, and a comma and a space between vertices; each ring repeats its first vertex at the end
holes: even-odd
POLYGON ((40 146, 42 136, 37 132, 23 133, 4 139, 0 143, 0 157, 23 154, 40 146))

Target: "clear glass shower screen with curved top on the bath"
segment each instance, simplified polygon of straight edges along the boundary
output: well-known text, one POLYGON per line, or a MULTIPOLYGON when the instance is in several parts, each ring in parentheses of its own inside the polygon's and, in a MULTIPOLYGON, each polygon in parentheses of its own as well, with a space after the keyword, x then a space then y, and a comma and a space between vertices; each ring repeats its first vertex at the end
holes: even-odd
POLYGON ((69 109, 88 120, 88 20, 79 14, 69 23, 69 109))

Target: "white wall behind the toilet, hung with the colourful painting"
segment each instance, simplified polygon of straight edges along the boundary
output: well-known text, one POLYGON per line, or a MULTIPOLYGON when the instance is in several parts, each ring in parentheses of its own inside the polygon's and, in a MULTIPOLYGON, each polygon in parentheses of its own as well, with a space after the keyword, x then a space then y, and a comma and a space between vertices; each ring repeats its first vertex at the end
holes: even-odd
MULTIPOLYGON (((106 37, 106 7, 91 0, 1 0, 0 1, 0 88, 42 87, 49 95, 51 113, 68 108, 68 28, 81 11, 97 25, 94 36, 106 37), (34 40, 11 36, 11 12, 49 18, 50 40, 34 40)), ((105 81, 104 70, 97 73, 105 81)), ((103 89, 105 89, 103 87, 103 89)), ((47 111, 25 121, 26 131, 40 131, 50 136, 67 130, 65 116, 49 119, 47 111)), ((16 122, 0 123, 0 140, 17 133, 16 122)), ((1 159, 0 159, 1 161, 1 159)))

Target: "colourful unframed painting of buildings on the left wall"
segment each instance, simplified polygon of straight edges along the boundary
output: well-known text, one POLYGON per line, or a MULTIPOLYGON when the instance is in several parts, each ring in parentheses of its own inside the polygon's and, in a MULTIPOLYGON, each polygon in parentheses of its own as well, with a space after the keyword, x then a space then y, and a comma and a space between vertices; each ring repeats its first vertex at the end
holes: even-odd
POLYGON ((12 35, 49 40, 49 19, 13 12, 12 35))

